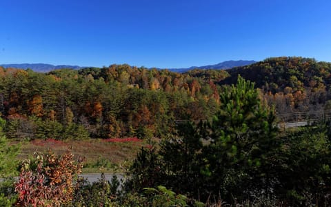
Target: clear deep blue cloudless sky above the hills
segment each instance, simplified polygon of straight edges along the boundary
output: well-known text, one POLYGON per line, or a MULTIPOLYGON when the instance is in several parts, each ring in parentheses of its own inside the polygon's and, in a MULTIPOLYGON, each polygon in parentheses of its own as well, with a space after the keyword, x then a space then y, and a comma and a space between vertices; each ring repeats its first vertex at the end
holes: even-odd
POLYGON ((330 0, 0 0, 0 63, 331 61, 330 0))

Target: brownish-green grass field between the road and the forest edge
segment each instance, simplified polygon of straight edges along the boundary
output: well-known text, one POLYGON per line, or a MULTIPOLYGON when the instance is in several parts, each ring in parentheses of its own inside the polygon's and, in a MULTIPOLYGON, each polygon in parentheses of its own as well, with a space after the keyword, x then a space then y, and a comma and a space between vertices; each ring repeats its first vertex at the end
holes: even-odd
POLYGON ((21 143, 19 159, 27 159, 34 152, 49 149, 57 155, 72 148, 77 159, 83 158, 83 172, 123 172, 132 163, 145 141, 126 139, 89 139, 83 141, 58 141, 34 139, 21 143))

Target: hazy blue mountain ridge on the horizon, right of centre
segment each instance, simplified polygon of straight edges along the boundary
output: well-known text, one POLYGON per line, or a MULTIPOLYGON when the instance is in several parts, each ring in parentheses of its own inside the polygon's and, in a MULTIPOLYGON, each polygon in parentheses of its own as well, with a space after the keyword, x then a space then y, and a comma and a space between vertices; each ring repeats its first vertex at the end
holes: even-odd
POLYGON ((193 70, 193 69, 219 69, 219 70, 226 70, 234 67, 239 67, 239 66, 248 66, 252 63, 256 63, 257 61, 253 60, 238 60, 238 61, 223 61, 221 63, 215 64, 215 65, 208 65, 208 66, 192 66, 190 68, 172 68, 169 69, 174 72, 185 72, 188 70, 193 70))

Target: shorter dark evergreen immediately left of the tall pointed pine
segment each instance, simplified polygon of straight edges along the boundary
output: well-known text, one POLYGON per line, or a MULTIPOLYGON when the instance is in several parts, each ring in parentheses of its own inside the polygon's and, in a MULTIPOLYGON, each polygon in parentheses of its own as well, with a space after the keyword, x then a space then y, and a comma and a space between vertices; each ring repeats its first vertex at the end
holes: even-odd
POLYGON ((165 172, 162 184, 170 186, 176 192, 190 193, 198 197, 203 190, 203 181, 199 173, 199 156, 206 124, 196 126, 192 122, 179 124, 177 135, 161 142, 159 154, 163 157, 162 170, 165 172))

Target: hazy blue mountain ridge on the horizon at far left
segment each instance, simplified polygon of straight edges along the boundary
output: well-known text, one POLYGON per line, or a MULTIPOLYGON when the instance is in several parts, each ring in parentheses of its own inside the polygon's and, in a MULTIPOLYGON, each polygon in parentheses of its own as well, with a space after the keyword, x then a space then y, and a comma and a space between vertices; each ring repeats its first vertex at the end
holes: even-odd
POLYGON ((31 70, 36 72, 49 72, 50 70, 56 70, 60 68, 70 68, 75 70, 81 68, 79 66, 67 66, 67 65, 53 66, 45 63, 2 64, 0 66, 2 66, 3 68, 19 68, 24 70, 30 68, 31 70))

